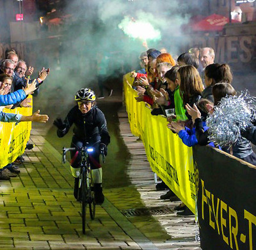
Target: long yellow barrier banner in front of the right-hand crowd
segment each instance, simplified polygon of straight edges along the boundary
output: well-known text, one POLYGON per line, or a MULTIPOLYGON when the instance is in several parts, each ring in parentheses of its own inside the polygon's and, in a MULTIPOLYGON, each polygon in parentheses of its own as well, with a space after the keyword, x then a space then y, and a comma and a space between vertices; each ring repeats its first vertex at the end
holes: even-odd
POLYGON ((140 136, 152 171, 195 213, 195 170, 193 151, 167 128, 166 117, 152 115, 148 105, 137 102, 132 89, 134 78, 124 76, 124 97, 131 132, 140 136))

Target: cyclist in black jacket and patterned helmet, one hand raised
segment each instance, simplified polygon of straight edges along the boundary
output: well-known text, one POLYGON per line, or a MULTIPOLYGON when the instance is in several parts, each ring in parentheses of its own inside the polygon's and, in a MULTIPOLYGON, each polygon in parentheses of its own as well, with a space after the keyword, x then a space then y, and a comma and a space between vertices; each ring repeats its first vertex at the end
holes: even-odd
MULTIPOLYGON (((89 160, 92 169, 95 202, 102 204, 104 195, 102 193, 102 168, 99 158, 100 151, 103 151, 105 156, 107 155, 110 136, 104 114, 97 108, 95 99, 95 93, 91 89, 80 89, 75 96, 77 105, 68 112, 64 121, 57 118, 53 124, 58 128, 57 135, 63 137, 74 123, 71 147, 93 147, 94 151, 90 153, 89 160)), ((74 197, 77 199, 81 152, 70 151, 70 154, 70 169, 75 177, 74 197)))

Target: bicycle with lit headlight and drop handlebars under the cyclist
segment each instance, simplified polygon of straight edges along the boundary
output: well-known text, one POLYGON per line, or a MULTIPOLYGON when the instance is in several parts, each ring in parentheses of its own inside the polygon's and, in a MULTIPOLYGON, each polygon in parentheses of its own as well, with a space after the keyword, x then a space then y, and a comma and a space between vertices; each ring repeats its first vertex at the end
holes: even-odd
MULTIPOLYGON (((81 212, 82 212, 82 223, 83 223, 83 234, 85 234, 85 224, 86 224, 86 207, 89 205, 90 217, 91 219, 95 218, 95 198, 92 186, 92 172, 89 161, 89 154, 93 152, 92 147, 70 147, 62 149, 62 163, 66 162, 66 153, 68 151, 80 151, 81 152, 81 163, 80 163, 80 173, 79 173, 79 187, 77 202, 81 203, 81 212)), ((102 162, 105 163, 104 152, 100 151, 102 154, 102 162)))

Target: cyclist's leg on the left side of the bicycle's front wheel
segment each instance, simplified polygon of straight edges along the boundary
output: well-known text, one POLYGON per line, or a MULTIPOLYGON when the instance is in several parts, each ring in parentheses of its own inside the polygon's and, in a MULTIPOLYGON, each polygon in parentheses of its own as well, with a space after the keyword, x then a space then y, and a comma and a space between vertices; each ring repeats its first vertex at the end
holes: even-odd
MULTIPOLYGON (((83 142, 77 140, 76 136, 73 136, 70 147, 83 147, 83 142)), ((70 170, 74 177, 74 197, 77 199, 80 173, 79 163, 81 161, 81 152, 70 151, 70 156, 70 170)))

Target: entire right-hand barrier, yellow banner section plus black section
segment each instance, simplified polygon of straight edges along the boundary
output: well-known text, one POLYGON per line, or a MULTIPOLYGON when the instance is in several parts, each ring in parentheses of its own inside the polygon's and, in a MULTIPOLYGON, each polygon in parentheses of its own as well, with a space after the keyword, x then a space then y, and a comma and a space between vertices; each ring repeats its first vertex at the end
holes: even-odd
POLYGON ((212 147, 187 147, 166 118, 137 103, 130 73, 124 98, 132 134, 143 140, 152 170, 195 213, 204 250, 256 249, 256 166, 212 147))

